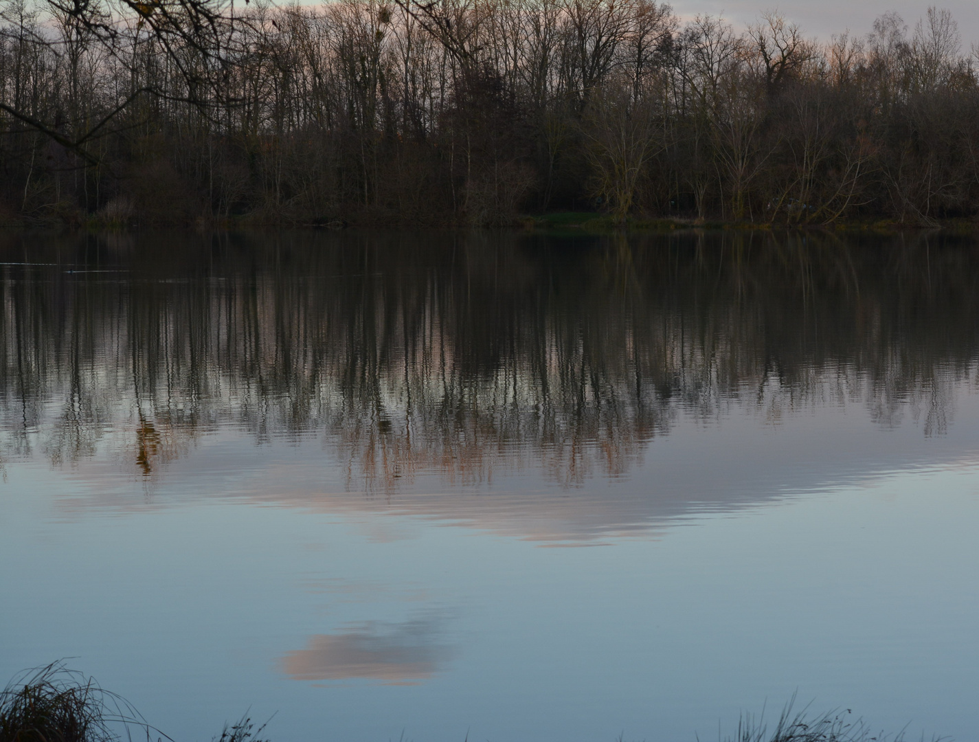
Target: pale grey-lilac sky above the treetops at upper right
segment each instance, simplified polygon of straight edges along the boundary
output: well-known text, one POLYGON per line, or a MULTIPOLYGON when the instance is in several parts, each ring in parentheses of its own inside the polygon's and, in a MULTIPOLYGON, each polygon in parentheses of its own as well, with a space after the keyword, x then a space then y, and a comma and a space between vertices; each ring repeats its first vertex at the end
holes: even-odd
MULTIPOLYGON (((723 15, 735 24, 754 21, 763 10, 776 9, 786 18, 798 23, 807 36, 828 39, 833 33, 850 29, 852 33, 867 33, 875 18, 896 10, 908 23, 909 28, 924 15, 927 0, 673 0, 672 5, 681 19, 698 13, 723 15)), ((962 36, 962 49, 967 51, 973 43, 979 43, 979 3, 975 0, 947 0, 936 6, 952 12, 962 36)))

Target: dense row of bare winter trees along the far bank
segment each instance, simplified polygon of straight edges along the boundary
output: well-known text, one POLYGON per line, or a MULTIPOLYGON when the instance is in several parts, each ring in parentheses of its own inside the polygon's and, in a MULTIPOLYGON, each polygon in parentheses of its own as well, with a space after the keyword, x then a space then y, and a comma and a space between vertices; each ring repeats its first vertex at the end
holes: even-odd
POLYGON ((979 214, 979 74, 934 8, 818 43, 655 0, 147 2, 3 0, 8 218, 979 214))

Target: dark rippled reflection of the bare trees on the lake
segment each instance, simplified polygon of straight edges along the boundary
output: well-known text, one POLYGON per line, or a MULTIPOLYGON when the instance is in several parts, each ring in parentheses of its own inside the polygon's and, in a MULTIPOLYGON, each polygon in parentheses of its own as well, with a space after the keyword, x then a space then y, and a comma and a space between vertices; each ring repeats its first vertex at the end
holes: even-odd
POLYGON ((322 437, 351 487, 629 469, 680 414, 859 404, 942 433, 974 243, 918 235, 12 238, 3 458, 149 475, 226 426, 322 437), (24 258, 27 255, 27 259, 24 258), (46 264, 11 264, 11 263, 46 264), (39 451, 35 451, 39 449, 39 451))

